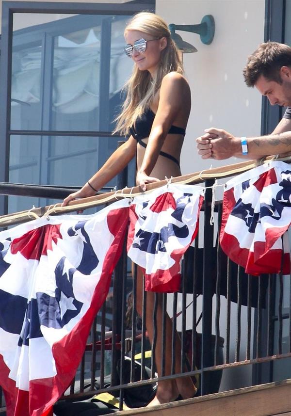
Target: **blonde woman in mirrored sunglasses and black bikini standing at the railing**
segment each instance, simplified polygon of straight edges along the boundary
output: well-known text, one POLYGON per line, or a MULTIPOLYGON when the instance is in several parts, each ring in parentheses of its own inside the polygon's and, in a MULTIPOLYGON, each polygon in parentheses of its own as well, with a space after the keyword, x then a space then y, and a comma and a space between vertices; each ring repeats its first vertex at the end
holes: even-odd
MULTIPOLYGON (((63 202, 92 196, 129 161, 137 156, 136 183, 142 190, 146 184, 181 175, 179 158, 185 136, 190 108, 190 88, 183 76, 178 50, 171 39, 167 24, 152 13, 139 13, 132 17, 125 29, 125 53, 133 60, 133 72, 125 85, 127 98, 117 117, 116 131, 129 136, 106 163, 93 175, 80 191, 71 193, 63 202)), ((138 269, 137 310, 142 314, 143 275, 138 269)), ((154 293, 147 293, 146 329, 153 339, 152 311, 154 293)), ((158 305, 158 328, 162 326, 162 304, 158 305)), ((165 374, 171 373, 172 325, 166 318, 165 374)), ((180 341, 176 336, 176 372, 180 372, 180 341)), ((162 336, 158 331, 156 366, 161 375, 162 336)), ((149 406, 193 397, 196 388, 190 377, 159 382, 157 394, 149 406)))

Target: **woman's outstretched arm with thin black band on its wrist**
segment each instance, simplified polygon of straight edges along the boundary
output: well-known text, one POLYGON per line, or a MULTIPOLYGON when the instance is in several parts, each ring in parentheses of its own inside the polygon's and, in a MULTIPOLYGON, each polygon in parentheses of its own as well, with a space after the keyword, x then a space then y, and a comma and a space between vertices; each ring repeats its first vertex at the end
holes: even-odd
POLYGON ((85 185, 77 192, 73 192, 68 195, 62 206, 65 207, 69 201, 76 198, 86 198, 87 196, 95 195, 95 191, 98 191, 102 186, 108 183, 114 176, 121 172, 135 156, 136 152, 136 140, 132 136, 116 149, 110 158, 104 163, 104 165, 94 174, 90 179, 89 183, 85 185), (94 189, 93 189, 94 188, 94 189))

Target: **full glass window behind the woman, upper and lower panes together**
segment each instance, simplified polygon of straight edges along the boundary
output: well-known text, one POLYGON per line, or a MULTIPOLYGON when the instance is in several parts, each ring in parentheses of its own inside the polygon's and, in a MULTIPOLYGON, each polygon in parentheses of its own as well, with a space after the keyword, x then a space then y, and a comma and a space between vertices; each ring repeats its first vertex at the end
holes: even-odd
MULTIPOLYGON (((12 42, 10 182, 82 186, 117 147, 113 131, 132 70, 123 52, 130 16, 14 13, 12 42), (29 136, 26 130, 71 131, 29 136), (103 136, 103 135, 101 135, 103 136)), ((135 163, 128 186, 134 185, 135 163)), ((108 186, 116 185, 116 178, 108 186)), ((9 212, 59 201, 9 198, 9 212)))

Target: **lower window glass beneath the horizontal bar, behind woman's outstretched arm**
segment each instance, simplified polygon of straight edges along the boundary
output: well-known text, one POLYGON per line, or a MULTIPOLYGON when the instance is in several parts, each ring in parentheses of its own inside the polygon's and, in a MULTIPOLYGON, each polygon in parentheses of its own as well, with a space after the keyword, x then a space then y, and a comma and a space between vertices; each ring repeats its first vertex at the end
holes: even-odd
MULTIPOLYGON (((119 140, 116 137, 11 136, 9 182, 82 186, 109 158, 119 140)), ((134 176, 135 161, 132 160, 128 186, 134 185, 134 176)), ((116 186, 116 177, 107 185, 116 186)), ((60 201, 11 196, 8 212, 56 202, 60 201)))

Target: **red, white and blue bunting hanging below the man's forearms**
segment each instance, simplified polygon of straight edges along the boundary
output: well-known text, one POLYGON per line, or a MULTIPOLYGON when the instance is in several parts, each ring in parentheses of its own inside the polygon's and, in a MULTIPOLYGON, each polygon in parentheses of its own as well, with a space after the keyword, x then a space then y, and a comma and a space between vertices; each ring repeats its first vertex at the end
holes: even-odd
POLYGON ((291 167, 273 161, 226 184, 220 244, 246 273, 290 273, 291 167))

